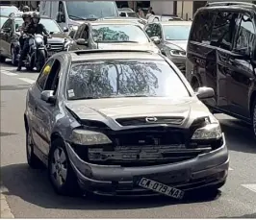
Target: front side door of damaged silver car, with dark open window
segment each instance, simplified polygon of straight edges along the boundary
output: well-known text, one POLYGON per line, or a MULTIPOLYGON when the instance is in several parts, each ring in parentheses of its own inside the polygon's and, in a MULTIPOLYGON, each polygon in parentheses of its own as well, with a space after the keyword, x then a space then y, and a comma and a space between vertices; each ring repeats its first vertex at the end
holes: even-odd
MULTIPOLYGON (((51 66, 50 72, 48 74, 47 80, 44 84, 42 90, 53 90, 56 94, 58 89, 59 77, 62 71, 62 64, 64 61, 61 57, 56 58, 51 66)), ((64 66, 64 65, 63 65, 64 66)), ((56 112, 58 111, 58 105, 46 103, 42 99, 38 99, 38 107, 36 111, 36 117, 38 125, 40 127, 40 151, 44 155, 49 153, 49 145, 52 130, 55 123, 56 112)))

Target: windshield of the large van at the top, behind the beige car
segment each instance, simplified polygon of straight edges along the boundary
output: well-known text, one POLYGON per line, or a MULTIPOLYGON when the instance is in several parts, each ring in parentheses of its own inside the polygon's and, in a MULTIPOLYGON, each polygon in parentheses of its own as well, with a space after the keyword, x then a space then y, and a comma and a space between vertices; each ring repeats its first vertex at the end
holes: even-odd
POLYGON ((115 2, 107 1, 66 1, 66 10, 68 16, 74 20, 118 16, 115 2))

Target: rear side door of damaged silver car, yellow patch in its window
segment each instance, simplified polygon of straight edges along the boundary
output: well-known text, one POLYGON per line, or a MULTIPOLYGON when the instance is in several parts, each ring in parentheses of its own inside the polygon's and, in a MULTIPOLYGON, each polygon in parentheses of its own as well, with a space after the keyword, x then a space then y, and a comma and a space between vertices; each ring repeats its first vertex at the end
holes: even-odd
POLYGON ((43 120, 44 115, 41 112, 40 109, 38 109, 38 106, 41 105, 43 102, 40 99, 40 94, 43 91, 43 88, 46 84, 48 75, 50 73, 50 70, 53 66, 55 59, 49 59, 44 67, 42 68, 38 80, 36 82, 36 85, 33 86, 32 90, 29 90, 29 96, 28 96, 28 104, 29 104, 29 112, 30 113, 30 127, 31 132, 33 136, 34 143, 36 144, 37 148, 39 149, 40 153, 45 154, 44 146, 45 146, 45 140, 43 139, 43 120))

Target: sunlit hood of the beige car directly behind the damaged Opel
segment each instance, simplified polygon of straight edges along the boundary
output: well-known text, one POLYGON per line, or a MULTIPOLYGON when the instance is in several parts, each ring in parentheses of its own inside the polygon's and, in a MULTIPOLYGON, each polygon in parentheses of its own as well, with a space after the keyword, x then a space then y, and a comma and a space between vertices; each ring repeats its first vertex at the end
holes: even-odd
POLYGON ((98 43, 99 49, 134 49, 134 50, 150 50, 155 53, 159 52, 159 48, 154 43, 98 43))

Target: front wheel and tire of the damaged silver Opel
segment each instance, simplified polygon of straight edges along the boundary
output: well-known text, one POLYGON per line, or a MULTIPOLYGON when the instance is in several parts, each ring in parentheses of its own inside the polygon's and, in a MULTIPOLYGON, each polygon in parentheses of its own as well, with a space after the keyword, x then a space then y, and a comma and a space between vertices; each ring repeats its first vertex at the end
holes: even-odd
POLYGON ((48 157, 48 177, 55 192, 64 196, 77 196, 81 189, 68 159, 61 138, 53 141, 48 157))

